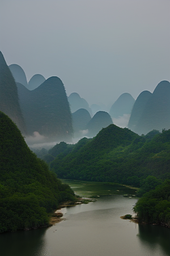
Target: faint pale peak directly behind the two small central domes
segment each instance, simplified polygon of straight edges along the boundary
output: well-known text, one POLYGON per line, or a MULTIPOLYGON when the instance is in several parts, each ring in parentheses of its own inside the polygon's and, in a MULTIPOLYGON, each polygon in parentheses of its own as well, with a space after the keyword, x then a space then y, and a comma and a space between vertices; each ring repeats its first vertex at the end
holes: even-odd
POLYGON ((84 98, 81 98, 78 93, 71 93, 68 97, 71 113, 76 112, 78 109, 87 109, 87 111, 92 115, 91 108, 84 98))

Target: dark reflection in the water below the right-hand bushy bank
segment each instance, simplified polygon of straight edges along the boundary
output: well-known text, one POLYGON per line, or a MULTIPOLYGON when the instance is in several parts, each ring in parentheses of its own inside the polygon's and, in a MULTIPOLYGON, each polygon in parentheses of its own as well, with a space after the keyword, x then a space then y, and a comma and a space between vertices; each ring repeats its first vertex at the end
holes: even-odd
MULTIPOLYGON (((163 250, 165 255, 170 255, 170 230, 156 225, 138 225, 137 235, 141 245, 154 251, 163 250)), ((154 255, 154 254, 153 254, 154 255)))

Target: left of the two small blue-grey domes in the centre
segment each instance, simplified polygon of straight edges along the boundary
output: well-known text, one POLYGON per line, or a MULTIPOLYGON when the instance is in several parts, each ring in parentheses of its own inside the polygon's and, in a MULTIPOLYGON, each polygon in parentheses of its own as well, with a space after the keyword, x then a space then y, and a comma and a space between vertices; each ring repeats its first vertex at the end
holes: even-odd
MULTIPOLYGON (((81 130, 86 130, 87 123, 91 120, 91 115, 86 109, 78 109, 72 114, 74 137, 81 137, 81 130)), ((84 137, 84 136, 83 136, 84 137)))

